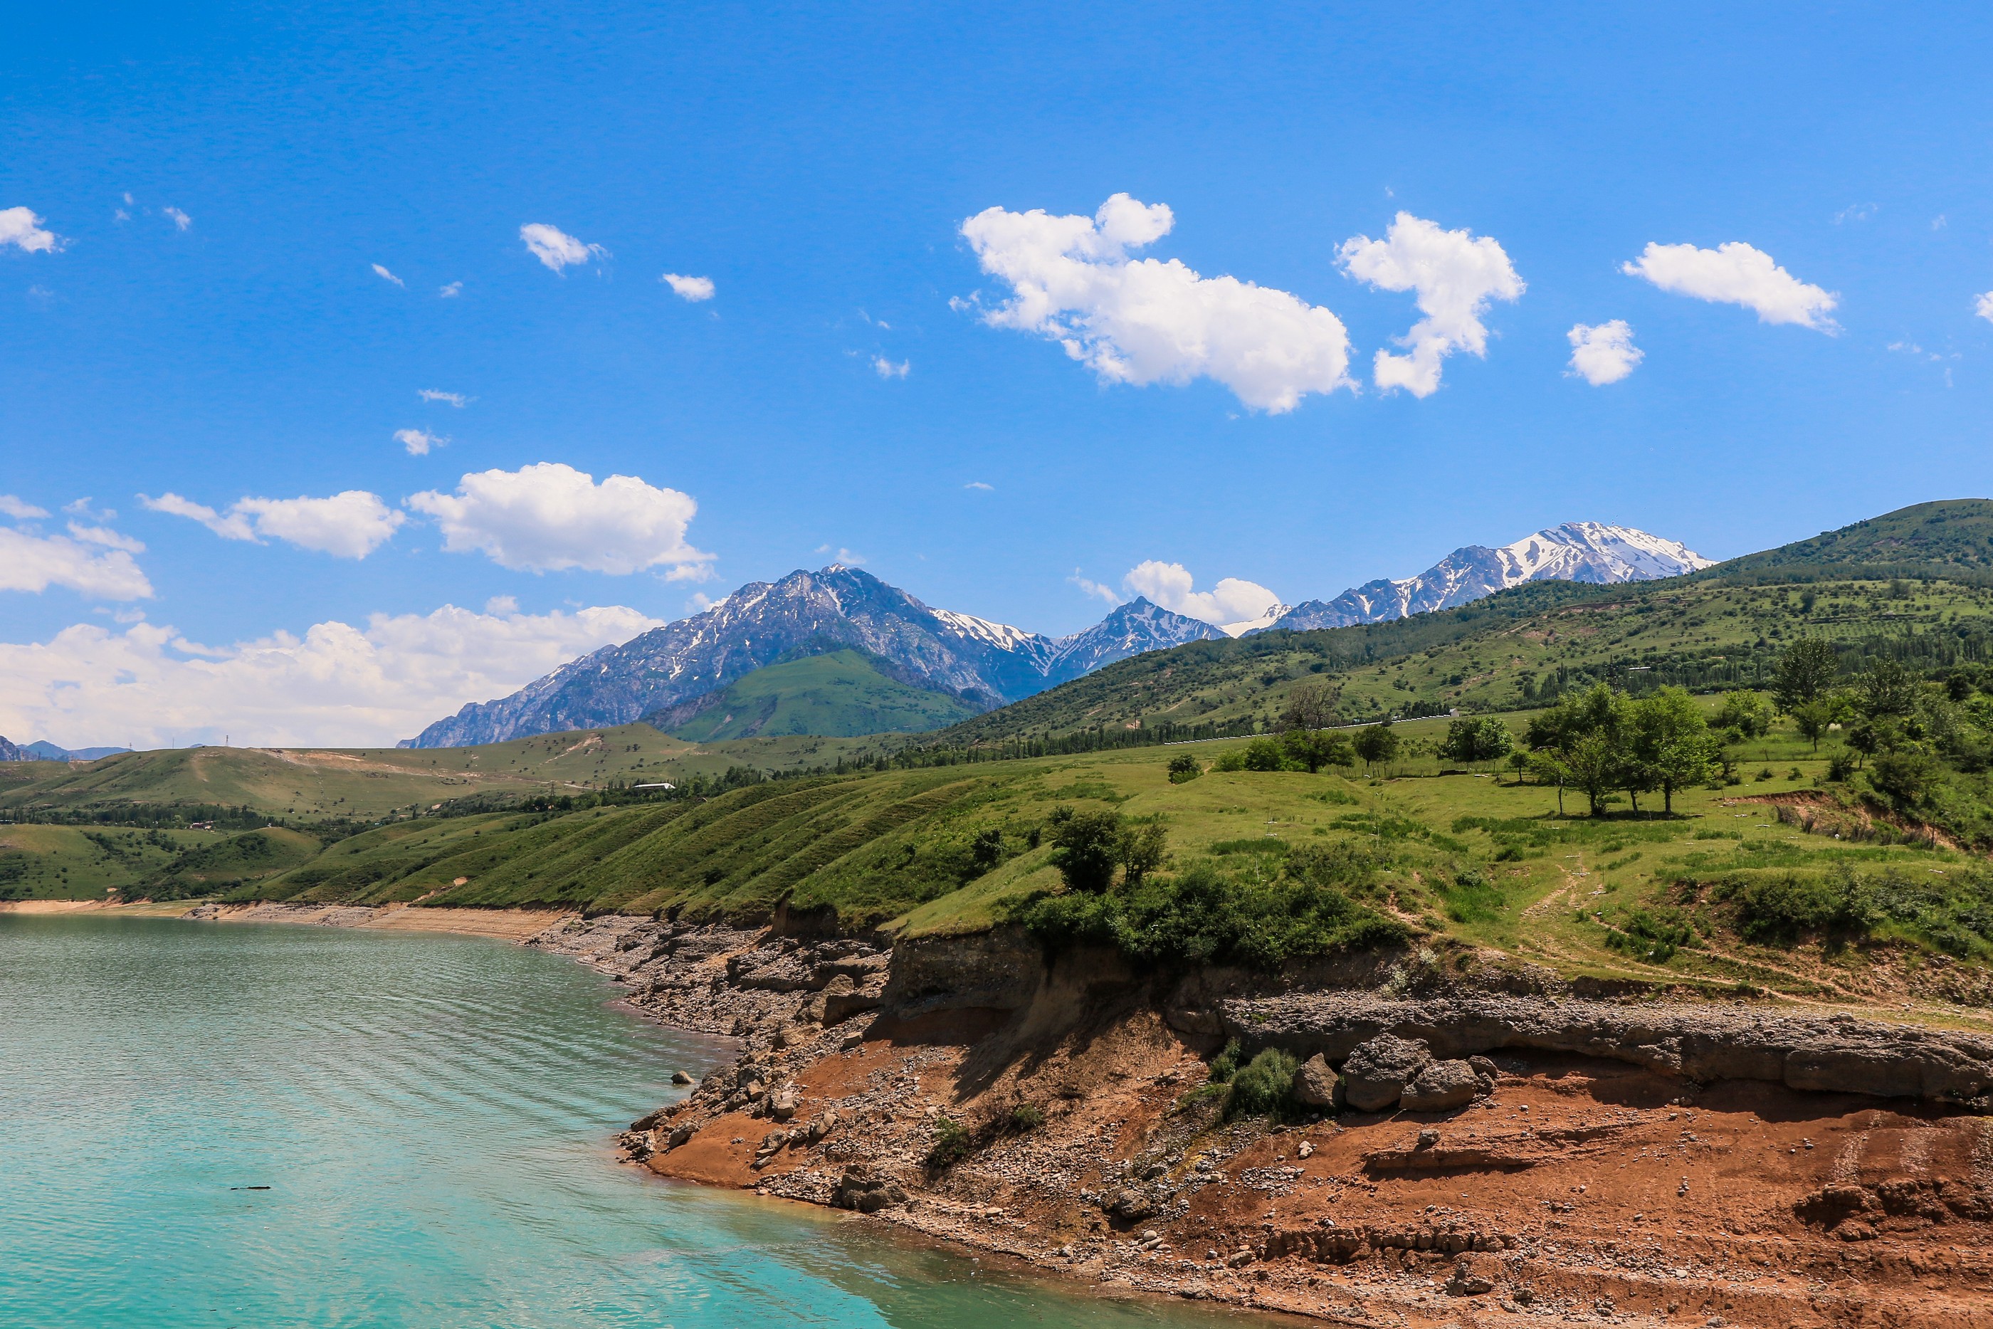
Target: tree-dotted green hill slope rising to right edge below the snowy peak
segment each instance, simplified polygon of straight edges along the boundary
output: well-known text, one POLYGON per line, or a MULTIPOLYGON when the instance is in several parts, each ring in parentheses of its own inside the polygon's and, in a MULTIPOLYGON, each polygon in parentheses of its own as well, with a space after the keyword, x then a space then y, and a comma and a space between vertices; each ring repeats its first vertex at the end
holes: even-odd
POLYGON ((929 745, 1030 751, 1080 731, 1110 743, 1266 731, 1309 677, 1337 687, 1345 723, 1539 705, 1592 679, 1634 691, 1750 687, 1798 636, 1836 642, 1850 665, 1871 654, 1927 669, 1977 664, 1993 660, 1987 556, 1993 502, 1921 504, 1686 578, 1541 582, 1387 624, 1136 656, 929 745))

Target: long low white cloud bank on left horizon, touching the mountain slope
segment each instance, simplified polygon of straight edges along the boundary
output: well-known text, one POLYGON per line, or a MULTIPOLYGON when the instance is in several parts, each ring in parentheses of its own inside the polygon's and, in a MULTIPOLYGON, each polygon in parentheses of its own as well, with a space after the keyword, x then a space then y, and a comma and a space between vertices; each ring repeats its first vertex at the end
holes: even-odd
POLYGON ((622 606, 574 614, 442 606, 213 648, 167 626, 78 624, 48 642, 0 644, 0 733, 78 747, 163 747, 223 733, 239 747, 385 747, 466 701, 516 691, 656 626, 622 606))

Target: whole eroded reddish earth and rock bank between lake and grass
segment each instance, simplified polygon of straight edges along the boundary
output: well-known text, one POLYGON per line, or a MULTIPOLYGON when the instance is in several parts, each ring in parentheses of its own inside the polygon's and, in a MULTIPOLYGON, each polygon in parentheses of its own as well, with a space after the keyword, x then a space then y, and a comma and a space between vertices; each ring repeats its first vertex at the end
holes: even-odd
POLYGON ((1000 930, 534 944, 739 1038, 624 1136, 662 1176, 1351 1325, 1993 1325, 1987 1038, 1417 954, 1266 984, 1000 930), (1313 1104, 1228 1120, 1228 1042, 1291 1052, 1313 1104))

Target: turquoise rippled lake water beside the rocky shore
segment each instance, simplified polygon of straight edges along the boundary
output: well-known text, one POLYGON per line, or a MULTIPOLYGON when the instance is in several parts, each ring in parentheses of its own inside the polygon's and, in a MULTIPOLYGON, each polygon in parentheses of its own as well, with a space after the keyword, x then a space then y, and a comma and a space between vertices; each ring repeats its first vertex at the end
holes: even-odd
POLYGON ((1268 1323, 618 1166, 712 1052, 612 998, 480 938, 0 915, 0 1325, 1268 1323))

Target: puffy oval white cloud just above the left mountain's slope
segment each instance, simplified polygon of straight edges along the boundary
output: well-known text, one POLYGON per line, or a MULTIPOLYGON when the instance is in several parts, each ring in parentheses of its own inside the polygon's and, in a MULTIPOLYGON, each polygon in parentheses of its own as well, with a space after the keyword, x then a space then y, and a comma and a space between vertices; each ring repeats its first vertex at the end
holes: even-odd
POLYGON ((700 504, 636 476, 596 478, 564 462, 466 474, 454 494, 409 498, 442 528, 442 548, 482 552, 522 572, 630 574, 666 568, 672 580, 704 578, 712 554, 686 542, 700 504))

